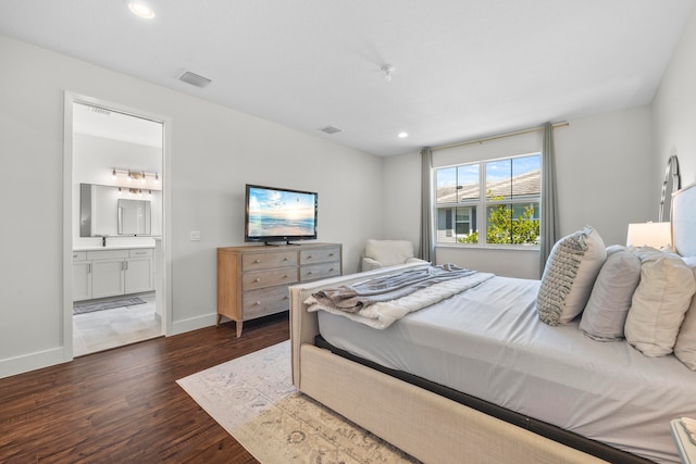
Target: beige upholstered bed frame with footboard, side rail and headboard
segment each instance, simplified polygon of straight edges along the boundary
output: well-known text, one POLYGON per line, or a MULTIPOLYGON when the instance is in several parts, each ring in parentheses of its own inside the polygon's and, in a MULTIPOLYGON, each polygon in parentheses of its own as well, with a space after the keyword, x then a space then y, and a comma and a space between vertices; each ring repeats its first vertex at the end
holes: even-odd
MULTIPOLYGON (((682 255, 696 254, 696 187, 675 193, 672 210, 676 251, 682 255)), ((611 449, 609 454, 580 451, 576 448, 582 447, 563 444, 556 438, 532 431, 533 424, 514 425, 496 418, 315 344, 316 313, 308 312, 303 304, 309 294, 320 288, 395 269, 376 269, 290 288, 293 383, 300 391, 428 463, 451 462, 453 456, 467 463, 555 464, 623 462, 632 457, 621 454, 612 457, 611 449)))

